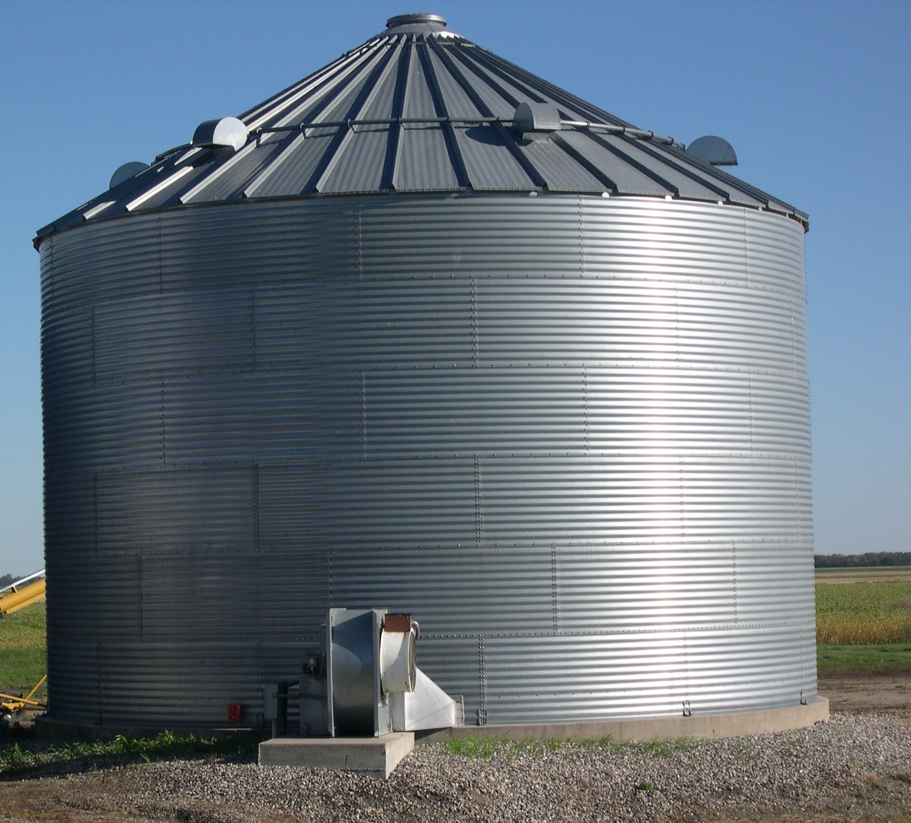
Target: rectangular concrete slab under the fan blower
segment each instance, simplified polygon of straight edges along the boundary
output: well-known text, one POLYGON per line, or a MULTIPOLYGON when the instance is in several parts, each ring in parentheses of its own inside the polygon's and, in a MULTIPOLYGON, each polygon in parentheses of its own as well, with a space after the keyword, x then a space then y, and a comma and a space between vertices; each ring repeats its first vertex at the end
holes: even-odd
POLYGON ((380 737, 275 737, 260 744, 260 766, 332 768, 385 780, 414 748, 413 732, 380 737))

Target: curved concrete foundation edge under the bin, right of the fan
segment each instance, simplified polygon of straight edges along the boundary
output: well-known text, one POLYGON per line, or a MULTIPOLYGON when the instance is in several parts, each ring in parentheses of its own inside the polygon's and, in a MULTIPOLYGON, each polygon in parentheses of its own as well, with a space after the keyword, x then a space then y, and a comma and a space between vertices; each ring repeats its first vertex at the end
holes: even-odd
POLYGON ((735 737, 761 735, 804 728, 829 719, 829 701, 818 696, 808 705, 786 706, 756 712, 725 712, 690 717, 637 717, 586 723, 528 725, 460 725, 420 736, 419 743, 437 743, 445 737, 500 737, 507 740, 598 740, 610 737, 617 743, 631 740, 679 739, 681 737, 735 737))

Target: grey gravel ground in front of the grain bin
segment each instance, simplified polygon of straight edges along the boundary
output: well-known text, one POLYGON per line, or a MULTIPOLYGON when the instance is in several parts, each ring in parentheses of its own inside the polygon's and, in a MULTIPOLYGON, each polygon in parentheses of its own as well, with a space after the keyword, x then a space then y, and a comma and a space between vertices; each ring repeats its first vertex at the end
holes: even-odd
MULTIPOLYGON (((387 782, 200 761, 26 782, 45 784, 51 805, 59 796, 94 815, 67 819, 897 820, 911 816, 911 725, 887 715, 834 715, 776 735, 657 746, 502 745, 486 757, 421 746, 387 782)), ((42 817, 51 817, 48 810, 42 817)), ((0 803, 0 820, 20 819, 11 812, 0 803)))

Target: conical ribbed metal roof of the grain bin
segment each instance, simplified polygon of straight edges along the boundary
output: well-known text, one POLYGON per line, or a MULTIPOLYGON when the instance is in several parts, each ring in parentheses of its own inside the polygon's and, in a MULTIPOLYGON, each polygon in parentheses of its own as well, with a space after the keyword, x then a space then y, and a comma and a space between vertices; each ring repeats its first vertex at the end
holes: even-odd
MULTIPOLYGON (((239 119, 247 129, 240 148, 241 124, 225 118, 230 144, 164 152, 40 229, 36 245, 125 211, 389 191, 646 195, 769 209, 807 224, 793 206, 476 46, 438 15, 391 18, 239 119)), ((217 134, 220 122, 202 124, 198 135, 217 134)))

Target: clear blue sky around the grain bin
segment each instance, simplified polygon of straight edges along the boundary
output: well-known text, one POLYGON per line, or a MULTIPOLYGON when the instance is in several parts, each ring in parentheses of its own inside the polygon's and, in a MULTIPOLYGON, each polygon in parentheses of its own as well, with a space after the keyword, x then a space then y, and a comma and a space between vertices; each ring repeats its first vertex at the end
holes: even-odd
POLYGON ((0 0, 0 574, 43 565, 36 229, 410 11, 640 128, 729 139, 809 212, 816 550, 911 550, 911 4, 434 3, 0 0))

